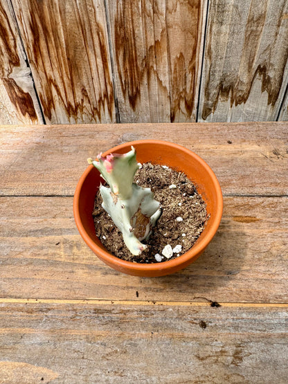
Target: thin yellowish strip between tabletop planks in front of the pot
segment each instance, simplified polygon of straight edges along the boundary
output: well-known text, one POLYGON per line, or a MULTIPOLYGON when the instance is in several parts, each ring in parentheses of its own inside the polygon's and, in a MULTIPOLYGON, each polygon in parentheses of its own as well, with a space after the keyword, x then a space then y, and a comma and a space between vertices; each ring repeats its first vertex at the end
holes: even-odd
POLYGON ((107 300, 107 299, 17 299, 0 298, 0 304, 93 304, 93 305, 156 305, 166 307, 251 307, 251 308, 288 308, 288 303, 271 302, 203 302, 156 301, 156 300, 107 300))

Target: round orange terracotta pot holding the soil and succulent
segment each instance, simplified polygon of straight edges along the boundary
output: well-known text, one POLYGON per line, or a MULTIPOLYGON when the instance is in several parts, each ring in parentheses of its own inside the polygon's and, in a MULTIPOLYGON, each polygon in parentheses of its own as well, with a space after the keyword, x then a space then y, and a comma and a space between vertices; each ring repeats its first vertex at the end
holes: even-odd
POLYGON ((138 162, 147 163, 150 161, 151 163, 168 165, 175 170, 184 172, 195 184, 197 191, 201 194, 204 201, 206 201, 206 209, 208 214, 210 214, 210 219, 195 245, 176 259, 160 263, 155 262, 153 264, 126 262, 107 252, 100 239, 96 236, 92 217, 93 203, 100 185, 100 174, 93 165, 87 167, 75 190, 73 201, 75 222, 80 235, 91 250, 112 268, 136 276, 155 277, 169 275, 194 262, 203 253, 215 235, 223 210, 221 188, 215 174, 205 161, 197 156, 197 154, 174 143, 160 140, 132 141, 109 149, 103 156, 107 156, 110 153, 123 154, 128 152, 132 145, 136 149, 138 162))

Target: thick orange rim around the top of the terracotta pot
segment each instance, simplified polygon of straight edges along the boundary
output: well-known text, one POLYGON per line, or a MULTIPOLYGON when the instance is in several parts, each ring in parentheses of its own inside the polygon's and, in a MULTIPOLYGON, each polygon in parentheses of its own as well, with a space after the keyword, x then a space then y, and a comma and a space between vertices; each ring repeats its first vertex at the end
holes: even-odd
POLYGON ((91 237, 89 237, 89 235, 87 234, 82 224, 82 219, 80 217, 79 204, 78 204, 82 185, 85 179, 87 178, 87 175, 89 174, 89 172, 91 172, 91 170, 93 169, 93 165, 89 165, 87 167, 87 169, 84 171, 84 173, 82 174, 82 176, 78 181, 78 184, 75 189, 74 198, 73 198, 73 214, 74 214, 76 226, 80 232, 80 235, 82 236, 82 239, 84 239, 84 241, 89 246, 89 248, 91 248, 91 250, 93 250, 93 252, 96 253, 96 255, 99 255, 101 259, 105 260, 107 264, 109 265, 116 264, 118 267, 123 269, 129 269, 130 271, 163 271, 163 270, 175 268, 177 266, 180 266, 181 264, 186 264, 190 262, 195 257, 198 257, 199 254, 204 251, 206 246, 208 246, 210 241, 213 239, 215 233, 217 232, 219 223, 222 219, 222 212, 223 212, 222 190, 219 185, 219 181, 215 176, 215 173, 210 168, 210 166, 206 163, 206 161, 204 161, 199 155, 195 154, 195 152, 192 152, 190 149, 187 149, 182 145, 172 143, 170 141, 154 140, 154 139, 127 141, 123 144, 112 147, 108 151, 105 151, 103 153, 103 156, 107 156, 107 154, 110 154, 111 152, 117 152, 119 149, 123 149, 124 147, 127 147, 127 145, 136 146, 138 144, 147 144, 147 145, 159 144, 159 145, 167 145, 168 147, 177 148, 181 152, 186 152, 187 154, 189 154, 189 156, 192 155, 206 169, 210 178, 213 181, 213 184, 215 187, 216 200, 217 200, 217 210, 214 214, 214 221, 210 226, 210 230, 206 232, 206 236, 201 238, 201 235, 200 235, 196 243, 186 253, 183 253, 183 255, 172 260, 165 260, 165 262, 160 262, 160 263, 156 262, 156 263, 149 263, 149 264, 141 264, 136 262, 128 262, 126 260, 120 259, 119 257, 112 255, 107 250, 100 248, 100 246, 98 246, 93 241, 93 239, 91 239, 91 237))

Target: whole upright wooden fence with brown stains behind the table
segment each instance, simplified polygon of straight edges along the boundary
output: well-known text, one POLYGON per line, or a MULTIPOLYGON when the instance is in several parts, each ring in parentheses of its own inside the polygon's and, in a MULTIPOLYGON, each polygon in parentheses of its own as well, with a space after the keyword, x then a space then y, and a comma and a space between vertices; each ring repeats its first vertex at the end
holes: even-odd
POLYGON ((0 0, 0 123, 288 120, 287 0, 0 0))

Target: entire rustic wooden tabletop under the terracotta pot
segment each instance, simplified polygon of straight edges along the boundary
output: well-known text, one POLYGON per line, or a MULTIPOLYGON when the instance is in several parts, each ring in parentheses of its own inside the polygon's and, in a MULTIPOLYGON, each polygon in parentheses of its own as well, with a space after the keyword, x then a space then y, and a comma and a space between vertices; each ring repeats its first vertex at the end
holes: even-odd
POLYGON ((287 383, 288 124, 0 127, 0 383, 287 383), (86 159, 170 140, 213 168, 224 215, 167 277, 109 268, 75 228, 86 159))

